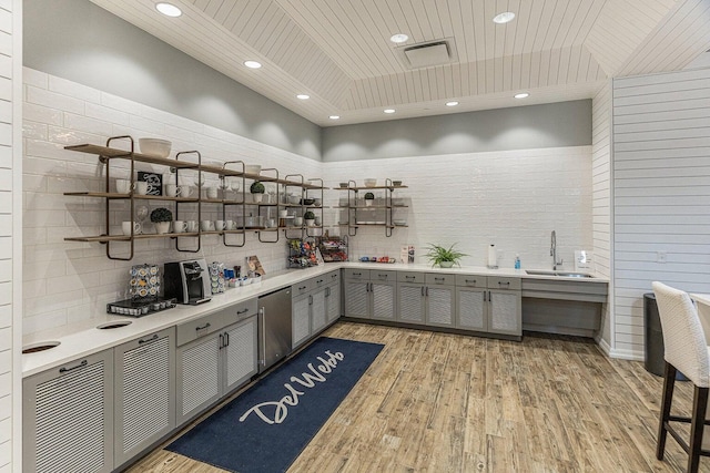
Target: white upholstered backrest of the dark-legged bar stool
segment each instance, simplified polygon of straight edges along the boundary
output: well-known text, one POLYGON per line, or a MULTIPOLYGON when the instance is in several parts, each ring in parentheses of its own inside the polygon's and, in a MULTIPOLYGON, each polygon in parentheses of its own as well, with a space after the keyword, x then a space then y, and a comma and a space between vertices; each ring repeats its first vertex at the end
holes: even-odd
POLYGON ((708 342, 688 292, 655 281, 663 330, 663 358, 699 388, 710 388, 708 342))

